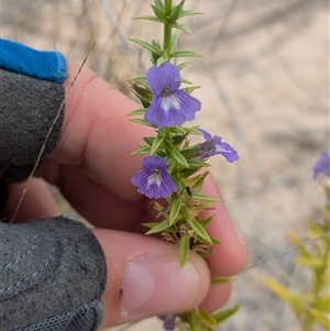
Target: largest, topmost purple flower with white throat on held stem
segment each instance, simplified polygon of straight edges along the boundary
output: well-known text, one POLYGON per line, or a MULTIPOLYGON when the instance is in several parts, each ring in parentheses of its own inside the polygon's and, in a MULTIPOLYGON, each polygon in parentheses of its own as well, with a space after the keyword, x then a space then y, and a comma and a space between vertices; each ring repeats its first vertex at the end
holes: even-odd
POLYGON ((160 67, 153 66, 146 74, 146 81, 153 93, 151 106, 145 112, 148 123, 162 129, 182 125, 195 119, 195 112, 201 103, 184 90, 179 89, 179 69, 166 62, 160 67))

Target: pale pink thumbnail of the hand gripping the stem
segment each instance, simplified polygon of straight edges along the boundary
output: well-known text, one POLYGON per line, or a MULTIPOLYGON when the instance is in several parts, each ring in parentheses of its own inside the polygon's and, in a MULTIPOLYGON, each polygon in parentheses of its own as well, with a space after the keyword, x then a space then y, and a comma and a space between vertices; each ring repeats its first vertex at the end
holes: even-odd
POLYGON ((124 315, 157 315, 182 310, 197 293, 199 275, 194 264, 184 267, 177 254, 144 255, 130 262, 123 282, 124 315))

